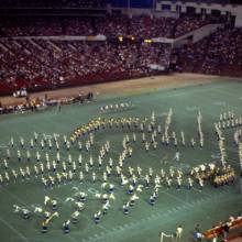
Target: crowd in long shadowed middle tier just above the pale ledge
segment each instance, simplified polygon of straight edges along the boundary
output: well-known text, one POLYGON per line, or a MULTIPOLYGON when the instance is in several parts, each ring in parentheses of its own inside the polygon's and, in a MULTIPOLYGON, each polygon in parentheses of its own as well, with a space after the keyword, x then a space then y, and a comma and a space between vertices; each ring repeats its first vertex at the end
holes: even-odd
POLYGON ((210 16, 182 15, 152 18, 150 15, 106 15, 100 18, 16 18, 0 21, 0 36, 37 35, 98 35, 108 37, 132 35, 134 37, 178 37, 205 24, 213 23, 210 16))

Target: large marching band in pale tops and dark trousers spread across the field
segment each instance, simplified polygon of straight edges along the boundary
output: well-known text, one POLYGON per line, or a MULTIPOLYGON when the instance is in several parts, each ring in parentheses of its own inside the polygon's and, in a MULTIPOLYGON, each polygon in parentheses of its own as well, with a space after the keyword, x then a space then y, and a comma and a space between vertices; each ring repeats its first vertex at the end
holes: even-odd
MULTIPOLYGON (((179 164, 182 147, 204 147, 206 141, 201 112, 199 111, 197 116, 197 136, 191 140, 186 139, 184 131, 177 133, 172 130, 172 119, 173 110, 169 109, 164 120, 164 131, 157 122, 155 112, 152 112, 151 118, 98 118, 78 127, 69 138, 64 135, 62 139, 57 134, 41 135, 36 132, 29 140, 20 138, 16 141, 11 138, 0 164, 0 185, 6 186, 31 179, 40 180, 45 189, 74 182, 75 185, 76 182, 80 185, 85 183, 100 185, 100 189, 94 196, 100 202, 100 207, 92 216, 94 222, 99 223, 113 207, 118 187, 124 189, 127 194, 121 209, 123 215, 129 215, 144 190, 148 193, 147 205, 154 206, 161 189, 202 190, 205 185, 219 187, 232 184, 235 174, 228 164, 223 133, 227 129, 240 128, 242 119, 235 118, 231 111, 220 114, 219 121, 215 123, 220 161, 198 164, 189 170, 183 170, 179 166, 172 165, 172 162, 179 164), (101 146, 95 140, 97 132, 111 130, 120 130, 124 133, 121 142, 122 148, 116 155, 112 153, 112 143, 109 140, 101 146), (152 163, 148 163, 148 168, 143 168, 142 164, 134 165, 131 162, 138 145, 145 153, 152 153, 161 146, 174 146, 176 153, 168 168, 161 166, 160 169, 154 169, 152 163), (94 151, 98 153, 97 157, 92 156, 94 151)), ((239 161, 242 167, 241 129, 235 130, 233 138, 239 148, 239 161)), ((63 222, 64 233, 68 233, 70 226, 78 222, 80 213, 88 204, 89 194, 79 190, 78 187, 73 187, 72 193, 72 196, 64 201, 73 206, 73 213, 68 220, 63 222)), ((35 205, 30 208, 14 205, 13 208, 14 212, 20 213, 23 219, 32 216, 40 217, 42 232, 46 233, 48 223, 62 213, 57 200, 57 198, 45 196, 42 206, 35 205)))

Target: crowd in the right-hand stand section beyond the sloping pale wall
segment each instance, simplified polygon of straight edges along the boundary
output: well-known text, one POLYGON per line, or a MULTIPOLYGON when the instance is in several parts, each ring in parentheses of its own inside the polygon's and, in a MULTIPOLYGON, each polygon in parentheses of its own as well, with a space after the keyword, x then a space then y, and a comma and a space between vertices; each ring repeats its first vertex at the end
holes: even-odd
POLYGON ((223 26, 200 42, 188 43, 175 52, 178 52, 183 70, 242 75, 242 29, 223 26))

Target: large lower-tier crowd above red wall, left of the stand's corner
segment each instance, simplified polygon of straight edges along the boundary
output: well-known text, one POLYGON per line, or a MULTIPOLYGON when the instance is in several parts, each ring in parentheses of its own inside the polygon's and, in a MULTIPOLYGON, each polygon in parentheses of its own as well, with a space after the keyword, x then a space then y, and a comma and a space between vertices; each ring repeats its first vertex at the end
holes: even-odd
POLYGON ((0 90, 44 89, 154 74, 166 44, 0 40, 0 90))

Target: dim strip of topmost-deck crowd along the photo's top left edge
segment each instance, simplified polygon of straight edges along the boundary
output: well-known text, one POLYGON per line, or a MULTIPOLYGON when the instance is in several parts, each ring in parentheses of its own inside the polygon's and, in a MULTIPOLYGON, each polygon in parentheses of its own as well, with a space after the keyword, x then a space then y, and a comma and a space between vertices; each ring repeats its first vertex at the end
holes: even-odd
POLYGON ((106 0, 1 0, 0 8, 105 8, 106 0))

